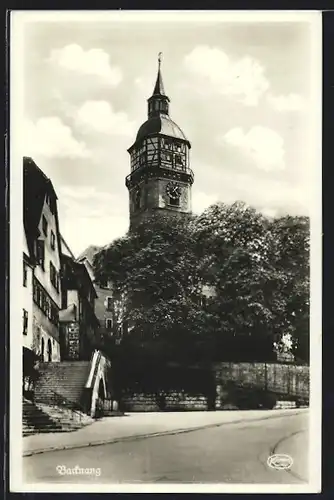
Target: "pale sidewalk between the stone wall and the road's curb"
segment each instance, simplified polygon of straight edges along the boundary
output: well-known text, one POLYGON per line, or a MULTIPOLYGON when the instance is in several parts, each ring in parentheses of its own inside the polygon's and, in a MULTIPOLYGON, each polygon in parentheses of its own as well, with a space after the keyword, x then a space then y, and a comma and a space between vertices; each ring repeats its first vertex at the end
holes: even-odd
POLYGON ((127 413, 120 417, 105 417, 77 431, 34 434, 23 438, 23 456, 52 450, 82 448, 125 440, 188 432, 241 421, 266 420, 296 415, 306 409, 250 410, 175 413, 127 413))

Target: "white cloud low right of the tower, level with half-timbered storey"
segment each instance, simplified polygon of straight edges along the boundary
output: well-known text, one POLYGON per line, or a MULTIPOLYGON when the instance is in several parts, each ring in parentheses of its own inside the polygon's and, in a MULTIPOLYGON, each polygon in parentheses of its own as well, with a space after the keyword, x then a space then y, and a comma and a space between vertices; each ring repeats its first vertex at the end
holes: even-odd
POLYGON ((218 140, 237 148, 247 158, 252 159, 261 170, 272 171, 285 168, 284 141, 272 129, 255 126, 248 132, 244 132, 241 127, 236 127, 218 140))

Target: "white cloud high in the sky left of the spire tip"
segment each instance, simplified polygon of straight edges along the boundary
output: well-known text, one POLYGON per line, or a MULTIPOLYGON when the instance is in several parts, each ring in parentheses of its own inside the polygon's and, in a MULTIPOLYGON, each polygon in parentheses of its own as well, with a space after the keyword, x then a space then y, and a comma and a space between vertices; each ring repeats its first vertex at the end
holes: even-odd
POLYGON ((102 49, 84 50, 80 45, 70 44, 51 51, 50 62, 81 75, 94 75, 112 86, 121 83, 123 75, 118 66, 111 66, 110 56, 102 49))

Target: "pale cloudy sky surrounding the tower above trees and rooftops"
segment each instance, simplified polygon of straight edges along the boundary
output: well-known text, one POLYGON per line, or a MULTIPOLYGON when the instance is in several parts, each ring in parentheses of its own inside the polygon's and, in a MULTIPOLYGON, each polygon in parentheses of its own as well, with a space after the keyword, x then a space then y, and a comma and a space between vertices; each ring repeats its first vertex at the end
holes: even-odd
POLYGON ((308 215, 311 24, 124 12, 23 23, 22 150, 53 182, 73 253, 128 229, 127 149, 147 119, 159 52, 170 116, 192 145, 193 211, 238 200, 308 215))

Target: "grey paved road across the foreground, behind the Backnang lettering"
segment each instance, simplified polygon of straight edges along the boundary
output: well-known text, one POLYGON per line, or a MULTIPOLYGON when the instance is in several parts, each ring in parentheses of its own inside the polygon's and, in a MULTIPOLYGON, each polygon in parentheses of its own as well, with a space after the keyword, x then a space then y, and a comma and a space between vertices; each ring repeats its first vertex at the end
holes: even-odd
POLYGON ((178 435, 89 448, 51 451, 23 459, 27 483, 280 483, 307 482, 307 414, 227 424, 178 435), (272 451, 293 452, 290 472, 270 469, 272 451), (66 468, 101 474, 61 475, 66 468))

